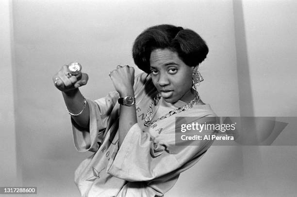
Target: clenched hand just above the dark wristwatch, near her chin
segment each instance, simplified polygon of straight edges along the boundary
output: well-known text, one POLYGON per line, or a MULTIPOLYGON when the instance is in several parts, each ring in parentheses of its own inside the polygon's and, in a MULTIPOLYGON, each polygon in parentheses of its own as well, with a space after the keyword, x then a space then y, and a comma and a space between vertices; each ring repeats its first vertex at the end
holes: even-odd
POLYGON ((128 65, 119 67, 109 74, 115 90, 120 96, 134 95, 134 68, 128 65))

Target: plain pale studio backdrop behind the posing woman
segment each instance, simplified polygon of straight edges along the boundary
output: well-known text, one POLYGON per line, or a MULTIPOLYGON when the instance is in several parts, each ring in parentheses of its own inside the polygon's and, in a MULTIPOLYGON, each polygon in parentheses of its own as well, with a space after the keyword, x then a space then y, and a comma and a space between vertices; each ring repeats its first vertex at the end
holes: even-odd
MULTIPOLYGON (((156 24, 206 41, 199 94, 218 116, 296 117, 296 18, 294 0, 0 0, 0 186, 79 197, 74 170, 91 152, 76 152, 51 77, 78 61, 89 75, 82 93, 105 96, 109 72, 134 66, 134 39, 156 24)), ((213 146, 165 197, 294 196, 296 155, 296 146, 213 146)))

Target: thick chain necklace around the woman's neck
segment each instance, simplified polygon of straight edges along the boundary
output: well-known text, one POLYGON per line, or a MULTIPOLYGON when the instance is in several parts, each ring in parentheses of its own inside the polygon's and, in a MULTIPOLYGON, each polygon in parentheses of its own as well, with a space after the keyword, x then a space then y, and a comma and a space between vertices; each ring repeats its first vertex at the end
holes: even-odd
POLYGON ((169 111, 164 116, 161 116, 160 118, 158 118, 155 121, 151 121, 152 115, 153 115, 154 110, 155 110, 155 106, 158 104, 158 102, 159 102, 159 100, 160 100, 161 97, 162 97, 161 93, 158 93, 155 96, 155 98, 153 99, 153 101, 151 102, 151 104, 149 105, 148 112, 146 114, 146 118, 145 118, 145 122, 144 122, 144 125, 145 126, 150 126, 153 123, 155 123, 156 121, 163 120, 165 118, 168 118, 169 116, 172 116, 173 114, 177 114, 177 113, 180 113, 182 111, 186 111, 189 108, 192 108, 193 105, 197 104, 197 102, 200 100, 200 96, 199 96, 199 94, 197 92, 195 98, 192 101, 190 101, 189 103, 187 103, 186 105, 181 106, 181 107, 179 107, 177 109, 174 109, 172 111, 169 111))

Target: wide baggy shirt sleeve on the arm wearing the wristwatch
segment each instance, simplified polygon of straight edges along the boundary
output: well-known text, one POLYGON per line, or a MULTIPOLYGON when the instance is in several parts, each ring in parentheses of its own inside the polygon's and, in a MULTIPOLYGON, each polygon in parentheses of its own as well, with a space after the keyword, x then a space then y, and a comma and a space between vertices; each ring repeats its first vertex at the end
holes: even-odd
MULTIPOLYGON (((169 141, 166 144, 157 142, 148 132, 143 132, 137 123, 134 124, 120 148, 115 146, 107 173, 129 182, 150 181, 173 171, 181 173, 183 168, 198 162, 213 142, 201 140, 194 146, 185 145, 180 140, 174 140, 175 127, 171 129, 164 134, 169 141)), ((214 132, 208 131, 209 134, 214 132)))

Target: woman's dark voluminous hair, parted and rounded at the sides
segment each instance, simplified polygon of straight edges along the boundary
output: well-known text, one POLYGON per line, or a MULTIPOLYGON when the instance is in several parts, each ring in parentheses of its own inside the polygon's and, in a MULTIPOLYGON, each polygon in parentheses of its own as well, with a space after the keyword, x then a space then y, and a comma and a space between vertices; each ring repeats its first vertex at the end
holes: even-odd
POLYGON ((158 48, 168 48, 178 53, 188 66, 198 65, 208 54, 208 47, 198 33, 165 24, 150 27, 137 36, 132 47, 134 63, 144 72, 150 73, 150 53, 158 48))

